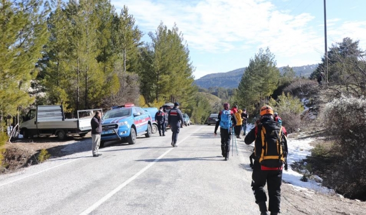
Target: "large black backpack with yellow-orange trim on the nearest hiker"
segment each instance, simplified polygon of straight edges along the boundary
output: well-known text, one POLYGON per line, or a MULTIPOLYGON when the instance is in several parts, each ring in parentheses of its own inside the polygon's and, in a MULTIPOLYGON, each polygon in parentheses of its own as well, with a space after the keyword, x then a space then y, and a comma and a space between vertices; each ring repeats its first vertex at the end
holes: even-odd
POLYGON ((266 167, 280 168, 285 162, 282 145, 282 126, 275 121, 258 125, 254 151, 256 159, 266 167))

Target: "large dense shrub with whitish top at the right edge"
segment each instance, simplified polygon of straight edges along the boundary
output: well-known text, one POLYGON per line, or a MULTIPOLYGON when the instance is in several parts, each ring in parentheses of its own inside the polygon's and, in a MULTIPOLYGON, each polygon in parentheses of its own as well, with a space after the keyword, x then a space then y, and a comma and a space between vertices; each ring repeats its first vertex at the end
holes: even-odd
POLYGON ((340 154, 338 166, 326 183, 350 198, 366 200, 366 99, 340 97, 328 103, 324 111, 327 132, 336 139, 334 153, 340 154))

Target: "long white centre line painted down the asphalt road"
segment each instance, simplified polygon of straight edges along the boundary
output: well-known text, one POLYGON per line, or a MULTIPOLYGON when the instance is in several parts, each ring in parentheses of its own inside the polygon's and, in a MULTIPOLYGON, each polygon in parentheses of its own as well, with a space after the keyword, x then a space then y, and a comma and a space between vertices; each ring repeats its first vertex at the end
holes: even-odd
MULTIPOLYGON (((197 130, 195 130, 196 133, 197 131, 199 131, 201 128, 198 128, 197 130)), ((180 144, 182 141, 186 140, 188 137, 190 137, 192 135, 192 133, 189 136, 186 136, 186 138, 178 141, 177 144, 180 144)), ((161 154, 158 158, 154 159, 154 161, 152 161, 151 163, 149 163, 147 166, 145 166, 143 169, 141 169, 139 172, 137 172, 135 175, 133 175, 132 177, 128 178, 126 181, 124 181, 123 183, 121 183, 119 186, 117 186, 115 189, 113 189, 112 191, 110 191, 108 194, 106 194, 104 197, 102 197, 100 200, 98 200, 97 202, 95 202, 93 205, 91 205, 88 209, 84 210, 82 213, 80 213, 80 215, 86 215, 91 213, 93 210, 95 210, 99 205, 101 205, 102 203, 104 203, 106 200, 108 200, 108 198, 112 197, 114 194, 116 194, 119 190, 121 190, 124 186, 126 186, 127 184, 129 184, 132 180, 136 179, 136 177, 138 177, 140 174, 142 174, 144 171, 146 171, 148 168, 150 168, 153 164, 155 164, 159 159, 161 159, 163 156, 165 156, 167 153, 169 153, 171 150, 173 150, 174 148, 171 147, 169 148, 167 151, 165 151, 163 154, 161 154)))

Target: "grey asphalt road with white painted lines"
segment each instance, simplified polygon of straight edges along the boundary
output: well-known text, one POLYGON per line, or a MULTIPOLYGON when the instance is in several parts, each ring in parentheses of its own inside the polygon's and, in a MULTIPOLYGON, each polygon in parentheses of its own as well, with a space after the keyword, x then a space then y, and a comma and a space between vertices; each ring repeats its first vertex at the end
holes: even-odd
MULTIPOLYGON (((134 145, 48 160, 0 176, 4 214, 258 214, 250 187, 252 146, 224 161, 214 126, 141 136, 134 145)), ((87 140, 89 141, 89 140, 87 140)), ((84 142, 84 144, 89 144, 84 142)), ((91 143, 90 143, 91 147, 91 143)), ((231 154, 230 154, 231 155, 231 154)))

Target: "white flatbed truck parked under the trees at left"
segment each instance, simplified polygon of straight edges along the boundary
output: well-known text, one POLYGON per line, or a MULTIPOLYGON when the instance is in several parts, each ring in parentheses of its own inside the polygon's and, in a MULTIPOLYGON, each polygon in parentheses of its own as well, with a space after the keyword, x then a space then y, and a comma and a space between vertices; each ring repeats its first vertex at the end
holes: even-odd
POLYGON ((68 135, 85 136, 91 131, 90 120, 94 111, 102 109, 78 110, 78 118, 65 119, 62 105, 39 105, 31 108, 20 126, 20 134, 24 138, 35 135, 56 135, 59 139, 65 139, 68 135))

